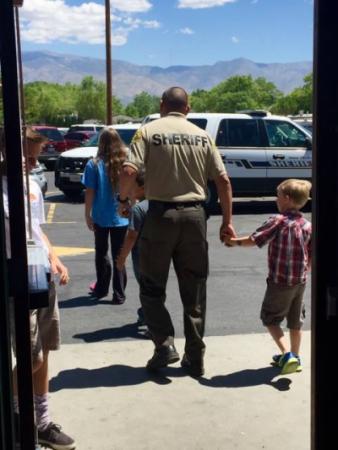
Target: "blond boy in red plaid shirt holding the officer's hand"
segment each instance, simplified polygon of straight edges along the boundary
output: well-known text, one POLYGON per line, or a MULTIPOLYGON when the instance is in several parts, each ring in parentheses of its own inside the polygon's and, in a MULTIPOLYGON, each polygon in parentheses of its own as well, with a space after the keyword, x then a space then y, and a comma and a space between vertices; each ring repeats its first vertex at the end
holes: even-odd
POLYGON ((302 370, 299 350, 305 318, 303 295, 311 263, 311 223, 299 211, 308 201, 311 183, 290 179, 277 188, 280 214, 271 216, 250 236, 224 236, 227 246, 268 246, 269 275, 261 309, 267 327, 281 354, 272 357, 282 374, 302 370), (290 347, 281 323, 287 319, 290 347))

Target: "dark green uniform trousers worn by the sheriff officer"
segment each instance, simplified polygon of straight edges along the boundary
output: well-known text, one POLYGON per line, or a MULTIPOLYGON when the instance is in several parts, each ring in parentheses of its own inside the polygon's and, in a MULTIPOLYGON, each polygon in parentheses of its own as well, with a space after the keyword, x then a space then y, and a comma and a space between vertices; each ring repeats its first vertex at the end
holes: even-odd
POLYGON ((203 357, 208 243, 201 205, 176 206, 150 201, 140 246, 140 297, 146 323, 157 347, 174 341, 167 308, 166 285, 171 260, 184 308, 185 353, 203 357))

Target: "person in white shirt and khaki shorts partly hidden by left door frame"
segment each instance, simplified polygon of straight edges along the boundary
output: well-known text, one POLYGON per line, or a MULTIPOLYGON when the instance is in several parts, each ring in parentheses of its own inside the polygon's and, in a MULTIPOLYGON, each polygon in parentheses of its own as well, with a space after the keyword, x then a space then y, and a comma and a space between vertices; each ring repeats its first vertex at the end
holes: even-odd
MULTIPOLYGON (((0 130, 1 131, 1 130, 0 130)), ((5 157, 5 142, 0 133, 0 146, 3 157, 5 157)), ((26 130, 27 159, 25 170, 30 172, 35 167, 37 158, 47 139, 37 131, 28 127, 26 130)), ((5 162, 5 161, 4 161, 5 162)), ((5 225, 7 234, 9 232, 9 210, 7 196, 7 178, 3 178, 3 200, 5 212, 5 225)), ((30 204, 30 219, 32 239, 41 246, 50 262, 52 280, 49 283, 49 302, 44 308, 34 309, 30 312, 30 340, 32 354, 34 407, 36 416, 36 428, 38 443, 55 450, 73 450, 76 447, 73 438, 61 430, 61 427, 52 422, 49 416, 49 376, 48 362, 49 352, 60 348, 60 315, 58 299, 55 290, 54 276, 59 278, 59 284, 65 285, 69 281, 68 269, 62 264, 55 253, 48 237, 42 231, 41 225, 45 222, 44 201, 39 185, 29 179, 29 196, 27 202, 30 204)), ((28 208, 26 208, 26 222, 28 222, 28 208)), ((9 236, 6 236, 9 244, 9 236)), ((10 257, 10 247, 7 246, 7 257, 10 257)), ((13 339, 13 350, 15 353, 15 339, 13 339)), ((16 367, 13 377, 14 388, 14 412, 15 421, 19 421, 19 405, 16 385, 16 367)))

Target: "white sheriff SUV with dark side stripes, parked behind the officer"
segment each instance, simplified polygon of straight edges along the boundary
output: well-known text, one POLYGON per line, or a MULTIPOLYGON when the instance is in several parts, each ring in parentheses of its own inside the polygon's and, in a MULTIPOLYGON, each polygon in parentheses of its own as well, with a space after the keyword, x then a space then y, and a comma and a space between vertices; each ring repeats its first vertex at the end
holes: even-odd
MULTIPOLYGON (((151 114, 143 124, 157 118, 159 114, 151 114)), ((214 139, 234 196, 275 195, 286 178, 311 179, 311 133, 287 117, 246 111, 189 113, 187 119, 214 139)), ((218 201, 214 183, 209 183, 208 195, 212 208, 218 201)))

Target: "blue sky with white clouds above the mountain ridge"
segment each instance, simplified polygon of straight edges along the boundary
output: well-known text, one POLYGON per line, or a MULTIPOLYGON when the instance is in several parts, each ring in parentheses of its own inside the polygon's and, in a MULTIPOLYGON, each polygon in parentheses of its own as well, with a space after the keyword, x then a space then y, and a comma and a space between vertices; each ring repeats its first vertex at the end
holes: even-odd
MULTIPOLYGON (((105 57, 104 0, 25 0, 22 48, 105 57)), ((312 60, 313 0, 111 0, 113 59, 135 64, 312 60)))

